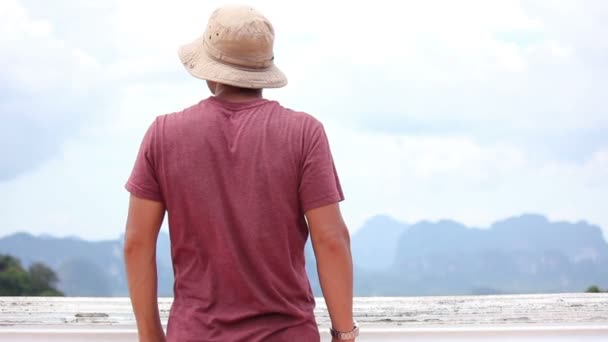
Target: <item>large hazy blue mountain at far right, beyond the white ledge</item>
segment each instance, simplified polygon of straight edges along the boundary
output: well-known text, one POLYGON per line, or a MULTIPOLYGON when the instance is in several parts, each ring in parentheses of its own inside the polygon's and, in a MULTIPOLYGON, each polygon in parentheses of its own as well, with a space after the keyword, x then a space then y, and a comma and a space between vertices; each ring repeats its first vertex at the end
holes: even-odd
POLYGON ((394 295, 578 292, 608 284, 599 227, 522 215, 472 229, 421 222, 400 238, 394 295))

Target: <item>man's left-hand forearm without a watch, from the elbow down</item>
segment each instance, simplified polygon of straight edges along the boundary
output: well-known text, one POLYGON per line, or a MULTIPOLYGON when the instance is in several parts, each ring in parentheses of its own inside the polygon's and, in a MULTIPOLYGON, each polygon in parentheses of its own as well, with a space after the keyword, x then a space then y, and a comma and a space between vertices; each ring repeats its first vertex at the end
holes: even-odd
POLYGON ((164 341, 165 333, 158 311, 155 250, 141 248, 141 246, 126 248, 125 264, 139 340, 142 342, 164 341))

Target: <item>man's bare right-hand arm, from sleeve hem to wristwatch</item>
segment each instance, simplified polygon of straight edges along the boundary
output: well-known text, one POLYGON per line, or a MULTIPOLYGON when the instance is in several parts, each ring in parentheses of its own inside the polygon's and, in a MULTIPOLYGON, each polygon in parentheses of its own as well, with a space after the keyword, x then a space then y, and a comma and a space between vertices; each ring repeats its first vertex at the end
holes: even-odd
POLYGON ((321 290, 334 330, 353 330, 353 261, 350 235, 338 204, 309 210, 306 219, 321 290))

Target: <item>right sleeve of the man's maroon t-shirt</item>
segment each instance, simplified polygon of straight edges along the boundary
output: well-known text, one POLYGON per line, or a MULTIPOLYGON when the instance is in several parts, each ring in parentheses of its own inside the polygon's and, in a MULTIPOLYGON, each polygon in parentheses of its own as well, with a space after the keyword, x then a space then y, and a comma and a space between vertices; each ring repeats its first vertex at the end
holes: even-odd
POLYGON ((321 123, 316 122, 304 143, 300 205, 304 213, 344 200, 340 179, 321 123))

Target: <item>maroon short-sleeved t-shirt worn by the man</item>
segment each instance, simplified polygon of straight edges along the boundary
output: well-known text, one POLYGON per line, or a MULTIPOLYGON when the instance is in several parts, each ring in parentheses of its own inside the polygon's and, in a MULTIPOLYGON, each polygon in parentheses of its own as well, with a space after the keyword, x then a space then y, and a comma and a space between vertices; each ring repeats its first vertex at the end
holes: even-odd
POLYGON ((264 99, 156 118, 126 188, 163 202, 168 341, 318 341, 304 213, 343 200, 323 126, 264 99))

